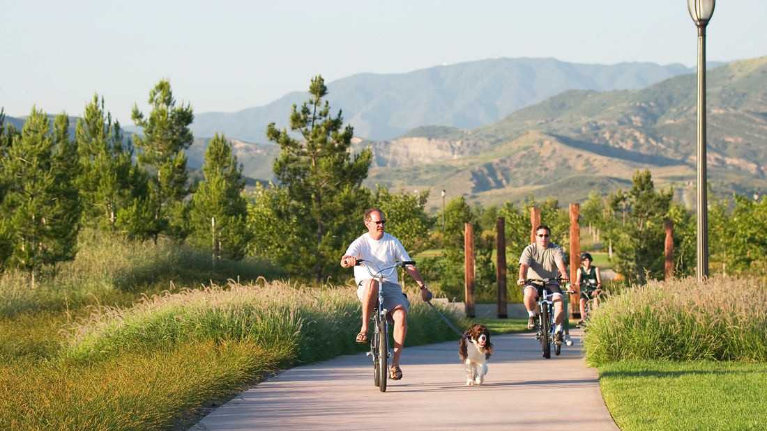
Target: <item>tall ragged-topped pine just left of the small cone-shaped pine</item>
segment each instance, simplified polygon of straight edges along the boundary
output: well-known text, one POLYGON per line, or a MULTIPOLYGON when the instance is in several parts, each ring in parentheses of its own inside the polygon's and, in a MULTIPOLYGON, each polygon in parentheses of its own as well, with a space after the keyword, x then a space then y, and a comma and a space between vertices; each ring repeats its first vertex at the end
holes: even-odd
POLYGON ((150 170, 150 190, 143 203, 134 201, 130 214, 138 215, 152 211, 153 222, 146 227, 155 242, 160 233, 176 240, 183 240, 188 232, 188 207, 184 198, 189 194, 189 173, 186 171, 186 154, 193 142, 189 124, 194 115, 189 104, 176 106, 170 82, 160 80, 150 91, 152 106, 149 118, 144 118, 138 106, 133 106, 132 118, 143 129, 143 136, 135 136, 136 146, 141 150, 138 158, 150 170), (143 208, 138 209, 140 204, 143 208))

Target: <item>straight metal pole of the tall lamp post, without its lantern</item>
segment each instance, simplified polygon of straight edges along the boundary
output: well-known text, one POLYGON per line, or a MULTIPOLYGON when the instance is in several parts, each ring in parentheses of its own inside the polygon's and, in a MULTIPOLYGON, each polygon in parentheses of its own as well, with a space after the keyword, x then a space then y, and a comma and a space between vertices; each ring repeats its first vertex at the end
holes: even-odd
POLYGON ((706 24, 698 25, 698 229, 697 276, 709 276, 708 199, 706 198, 706 24))

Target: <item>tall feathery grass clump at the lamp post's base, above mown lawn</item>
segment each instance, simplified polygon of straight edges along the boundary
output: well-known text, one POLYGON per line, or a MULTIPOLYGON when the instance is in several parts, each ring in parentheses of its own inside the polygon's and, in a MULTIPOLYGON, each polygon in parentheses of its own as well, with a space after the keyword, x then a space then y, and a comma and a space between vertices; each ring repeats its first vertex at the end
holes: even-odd
POLYGON ((716 277, 650 282, 612 295, 594 310, 587 361, 765 361, 767 285, 716 277))

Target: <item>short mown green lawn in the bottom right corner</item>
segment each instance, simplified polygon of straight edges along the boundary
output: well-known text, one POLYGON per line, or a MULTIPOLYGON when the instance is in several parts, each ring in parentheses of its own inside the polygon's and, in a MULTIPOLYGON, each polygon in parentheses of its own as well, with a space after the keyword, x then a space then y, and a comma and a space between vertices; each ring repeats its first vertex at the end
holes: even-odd
POLYGON ((604 402, 623 431, 767 427, 764 363, 615 362, 599 373, 604 402))

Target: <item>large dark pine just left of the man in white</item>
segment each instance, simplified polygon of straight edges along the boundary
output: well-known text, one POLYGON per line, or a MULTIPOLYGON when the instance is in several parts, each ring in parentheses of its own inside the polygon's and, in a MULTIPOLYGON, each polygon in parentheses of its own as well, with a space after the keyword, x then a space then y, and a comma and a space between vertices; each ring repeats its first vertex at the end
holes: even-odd
MULTIPOLYGON (((266 135, 280 145, 274 171, 281 187, 288 189, 288 207, 278 208, 278 217, 300 214, 294 232, 285 237, 295 239, 290 254, 298 260, 304 273, 323 279, 337 273, 337 258, 360 233, 362 208, 368 193, 361 187, 370 168, 370 150, 350 153, 354 129, 343 128, 343 116, 331 116, 328 94, 321 76, 309 86, 310 100, 301 109, 293 106, 290 129, 298 132, 295 139, 275 123, 267 126, 266 135)), ((278 240, 278 238, 275 238, 278 240)))

